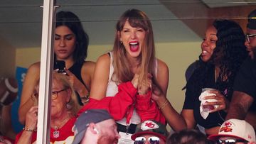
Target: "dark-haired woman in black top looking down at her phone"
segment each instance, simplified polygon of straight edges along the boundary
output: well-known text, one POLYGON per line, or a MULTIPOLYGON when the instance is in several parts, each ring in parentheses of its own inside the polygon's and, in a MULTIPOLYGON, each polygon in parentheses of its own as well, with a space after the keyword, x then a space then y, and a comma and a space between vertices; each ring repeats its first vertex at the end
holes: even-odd
MULTIPOLYGON (((82 105, 84 97, 89 95, 95 62, 85 61, 89 38, 82 28, 82 23, 75 13, 59 11, 56 14, 54 53, 55 60, 65 61, 65 72, 70 83, 78 94, 78 102, 82 105)), ((19 121, 24 123, 28 109, 33 106, 31 96, 39 79, 40 62, 28 68, 23 82, 21 104, 18 109, 19 121)))

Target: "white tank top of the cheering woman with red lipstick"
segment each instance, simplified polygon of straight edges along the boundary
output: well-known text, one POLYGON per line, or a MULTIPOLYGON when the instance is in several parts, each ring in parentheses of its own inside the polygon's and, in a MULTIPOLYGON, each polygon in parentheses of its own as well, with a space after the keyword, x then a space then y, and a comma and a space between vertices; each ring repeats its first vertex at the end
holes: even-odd
MULTIPOLYGON (((113 54, 112 51, 109 52, 110 53, 110 75, 109 75, 109 79, 108 79, 108 84, 107 84, 107 92, 106 92, 106 96, 115 96, 115 94, 117 94, 118 92, 118 87, 117 84, 115 82, 112 81, 112 74, 114 72, 114 67, 113 67, 113 54)), ((155 60, 155 65, 156 65, 156 70, 155 72, 157 72, 157 60, 155 60)), ((156 73, 157 74, 157 73, 156 73)), ((114 79, 114 76, 113 76, 114 79)), ((124 126, 126 126, 126 121, 127 118, 124 117, 122 118, 122 120, 117 121, 117 123, 122 124, 124 126)), ((134 111, 132 113, 132 118, 130 120, 130 123, 133 124, 139 124, 141 123, 141 119, 139 118, 138 113, 136 112, 136 109, 134 108, 134 111)))

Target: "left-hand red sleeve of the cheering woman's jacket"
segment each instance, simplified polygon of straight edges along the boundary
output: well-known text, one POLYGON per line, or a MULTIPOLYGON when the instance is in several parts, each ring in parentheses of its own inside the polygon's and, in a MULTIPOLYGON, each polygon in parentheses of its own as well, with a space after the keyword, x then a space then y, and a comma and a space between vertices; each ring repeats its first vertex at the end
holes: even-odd
POLYGON ((118 85, 118 92, 115 96, 107 96, 100 101, 90 99, 89 103, 80 109, 78 115, 87 109, 106 109, 118 121, 127 113, 129 106, 134 103, 137 89, 134 88, 132 82, 125 82, 118 85))

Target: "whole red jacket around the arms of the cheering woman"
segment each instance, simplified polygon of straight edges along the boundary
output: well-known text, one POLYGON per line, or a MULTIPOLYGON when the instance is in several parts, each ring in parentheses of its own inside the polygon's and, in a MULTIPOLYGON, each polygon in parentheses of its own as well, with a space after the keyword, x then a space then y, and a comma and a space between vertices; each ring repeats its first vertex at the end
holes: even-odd
POLYGON ((126 116, 127 122, 129 122, 134 108, 136 108, 142 122, 154 119, 166 124, 156 102, 151 99, 151 92, 145 95, 137 95, 137 89, 134 88, 132 82, 119 84, 115 96, 107 96, 100 101, 90 98, 90 101, 80 109, 78 115, 87 109, 106 109, 115 121, 126 116))

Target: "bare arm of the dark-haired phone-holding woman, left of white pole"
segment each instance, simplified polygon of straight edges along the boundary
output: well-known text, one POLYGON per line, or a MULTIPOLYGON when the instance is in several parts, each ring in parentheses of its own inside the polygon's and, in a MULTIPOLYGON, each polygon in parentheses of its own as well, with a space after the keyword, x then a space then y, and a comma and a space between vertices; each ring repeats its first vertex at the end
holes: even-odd
POLYGON ((40 62, 36 62, 28 67, 28 72, 23 82, 23 88, 21 93, 21 104, 18 109, 18 120, 24 124, 26 113, 34 105, 34 101, 31 99, 34 89, 40 77, 40 62))

